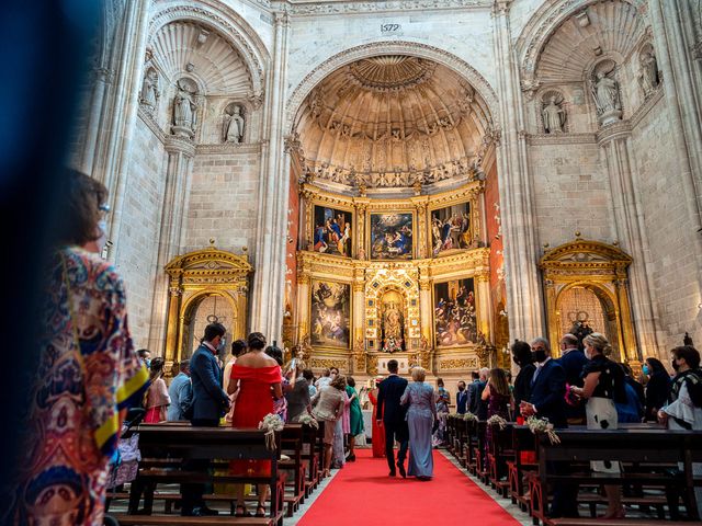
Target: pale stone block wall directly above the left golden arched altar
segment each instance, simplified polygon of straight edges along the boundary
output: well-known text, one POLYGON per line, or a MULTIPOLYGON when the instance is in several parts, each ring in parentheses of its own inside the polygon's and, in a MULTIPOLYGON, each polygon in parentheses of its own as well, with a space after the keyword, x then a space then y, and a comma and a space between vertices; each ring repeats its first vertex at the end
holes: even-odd
POLYGON ((218 249, 241 253, 247 247, 256 259, 260 153, 256 146, 241 149, 195 156, 181 253, 208 247, 214 238, 218 249))

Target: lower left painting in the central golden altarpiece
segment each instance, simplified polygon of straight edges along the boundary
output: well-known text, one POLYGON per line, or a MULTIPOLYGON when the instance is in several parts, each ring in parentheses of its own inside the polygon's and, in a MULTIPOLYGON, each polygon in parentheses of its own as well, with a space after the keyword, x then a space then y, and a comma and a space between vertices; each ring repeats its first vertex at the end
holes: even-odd
POLYGON ((316 347, 350 348, 351 285, 312 279, 310 343, 316 347))

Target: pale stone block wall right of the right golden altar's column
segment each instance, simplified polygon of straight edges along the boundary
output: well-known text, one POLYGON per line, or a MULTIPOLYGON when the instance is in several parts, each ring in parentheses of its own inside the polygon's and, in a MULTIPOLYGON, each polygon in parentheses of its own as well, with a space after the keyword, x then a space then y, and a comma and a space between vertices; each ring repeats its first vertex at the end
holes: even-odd
POLYGON ((661 346, 682 344, 686 331, 702 342, 702 285, 697 281, 691 253, 694 232, 684 205, 680 170, 670 147, 670 118, 665 99, 638 122, 632 133, 636 152, 636 183, 644 213, 644 229, 650 248, 654 294, 660 316, 661 346))

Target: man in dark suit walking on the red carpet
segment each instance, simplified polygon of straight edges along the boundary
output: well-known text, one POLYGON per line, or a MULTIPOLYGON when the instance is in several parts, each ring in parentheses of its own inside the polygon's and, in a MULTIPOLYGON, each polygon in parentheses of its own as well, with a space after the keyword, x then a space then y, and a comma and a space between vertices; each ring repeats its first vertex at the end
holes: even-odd
POLYGON ((390 468, 390 477, 395 477, 395 438, 399 442, 399 451, 397 453, 397 469, 403 478, 407 477, 405 471, 405 457, 407 457, 407 443, 409 441, 409 431, 405 414, 407 409, 400 405, 407 380, 397 376, 397 361, 390 359, 387 363, 389 376, 378 385, 377 391, 377 425, 385 426, 385 456, 387 465, 390 468))

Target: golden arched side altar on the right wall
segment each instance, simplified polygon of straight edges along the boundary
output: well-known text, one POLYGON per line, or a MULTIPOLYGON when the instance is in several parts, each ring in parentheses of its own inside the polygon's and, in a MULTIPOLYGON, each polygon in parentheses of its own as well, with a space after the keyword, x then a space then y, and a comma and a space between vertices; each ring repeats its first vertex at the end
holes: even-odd
POLYGON ((576 238, 546 251, 540 261, 543 272, 548 338, 554 353, 575 312, 610 340, 612 359, 639 365, 629 301, 627 270, 632 258, 619 247, 576 238), (577 304, 581 304, 581 308, 577 304), (576 310, 577 309, 577 310, 576 310), (589 309, 589 310, 588 310, 589 309), (600 327, 601 325, 601 327, 600 327))

